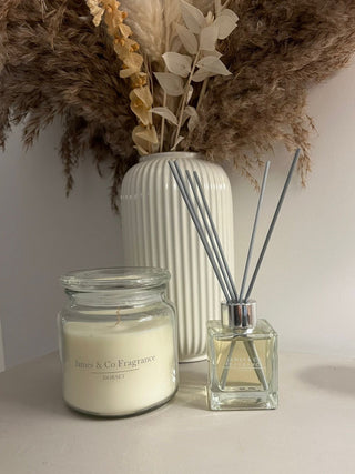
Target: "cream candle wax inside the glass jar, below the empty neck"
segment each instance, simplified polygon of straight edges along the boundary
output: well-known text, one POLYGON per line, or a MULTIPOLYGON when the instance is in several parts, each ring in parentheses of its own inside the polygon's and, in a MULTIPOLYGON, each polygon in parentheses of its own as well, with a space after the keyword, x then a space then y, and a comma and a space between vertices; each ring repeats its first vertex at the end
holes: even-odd
POLYGON ((62 337, 63 396, 74 409, 123 416, 159 405, 175 392, 170 317, 67 321, 62 337))

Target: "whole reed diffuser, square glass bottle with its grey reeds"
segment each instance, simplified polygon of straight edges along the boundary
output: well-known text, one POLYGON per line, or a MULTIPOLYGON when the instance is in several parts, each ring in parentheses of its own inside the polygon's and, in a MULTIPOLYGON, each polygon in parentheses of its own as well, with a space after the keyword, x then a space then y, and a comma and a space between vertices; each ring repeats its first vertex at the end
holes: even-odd
POLYGON ((197 173, 194 171, 192 178, 191 173, 186 171, 185 180, 179 164, 176 162, 169 163, 225 297, 221 304, 221 319, 207 323, 207 394, 211 410, 270 410, 277 407, 277 334, 266 320, 256 319, 256 302, 250 296, 298 157, 300 149, 295 152, 255 270, 246 286, 270 162, 265 165, 239 293, 197 173))

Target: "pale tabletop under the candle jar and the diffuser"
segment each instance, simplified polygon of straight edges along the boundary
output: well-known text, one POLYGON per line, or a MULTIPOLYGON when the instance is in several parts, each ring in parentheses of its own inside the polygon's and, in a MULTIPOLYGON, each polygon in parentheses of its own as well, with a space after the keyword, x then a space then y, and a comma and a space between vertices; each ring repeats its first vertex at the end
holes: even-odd
POLYGON ((355 360, 282 354, 276 411, 211 412, 206 363, 169 404, 102 420, 61 399, 58 354, 0 374, 3 474, 355 473, 355 360))

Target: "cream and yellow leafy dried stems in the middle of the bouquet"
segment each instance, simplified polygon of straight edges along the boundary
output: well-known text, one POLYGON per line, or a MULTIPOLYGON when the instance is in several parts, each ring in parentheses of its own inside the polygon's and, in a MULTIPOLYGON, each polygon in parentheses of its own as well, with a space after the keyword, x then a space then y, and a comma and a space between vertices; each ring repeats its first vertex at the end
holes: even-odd
MULTIPOLYGON (((124 21, 128 13, 120 10, 119 1, 87 0, 87 3, 93 17, 93 23, 97 27, 101 22, 105 23, 114 51, 122 61, 120 77, 131 80, 131 110, 139 122, 132 132, 136 150, 140 154, 165 149, 176 150, 185 139, 180 134, 184 123, 187 123, 190 133, 197 124, 197 109, 203 100, 209 79, 231 74, 220 59, 222 54, 215 48, 217 40, 224 40, 235 29, 237 16, 226 8, 227 2, 222 4, 221 0, 214 1, 214 12, 209 11, 206 16, 184 0, 180 0, 180 3, 166 1, 161 12, 161 20, 165 28, 160 37, 165 52, 153 51, 149 57, 145 51, 141 53, 139 43, 131 39, 133 31, 124 21), (180 23, 181 17, 184 24, 180 23), (179 52, 181 50, 184 50, 184 53, 179 52), (143 54, 145 54, 145 61, 143 54), (155 94, 154 79, 161 88, 155 94), (193 84, 199 82, 203 82, 203 85, 196 94, 199 98, 196 107, 193 107, 190 104, 194 99, 193 84), (153 107, 154 103, 158 107, 153 107), (159 133, 156 133, 153 114, 161 117, 159 133), (173 128, 170 133, 165 133, 165 121, 173 128)), ((153 1, 152 4, 156 7, 160 2, 155 1, 154 6, 153 1)), ((126 7, 131 7, 130 2, 126 7)), ((140 9, 142 8, 140 3, 140 9)), ((133 16, 133 28, 134 18, 133 16)), ((153 24, 149 26, 149 28, 152 27, 153 24)), ((138 23, 138 28, 142 29, 141 22, 138 23)), ((144 34, 146 34, 145 28, 144 34)))

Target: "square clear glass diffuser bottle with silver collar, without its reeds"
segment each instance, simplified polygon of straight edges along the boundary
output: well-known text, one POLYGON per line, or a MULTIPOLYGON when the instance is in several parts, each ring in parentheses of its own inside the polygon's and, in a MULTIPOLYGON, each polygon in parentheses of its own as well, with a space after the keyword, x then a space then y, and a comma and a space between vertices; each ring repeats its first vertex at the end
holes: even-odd
POLYGON ((277 334, 256 320, 256 302, 222 303, 207 337, 210 409, 276 409, 277 334))

